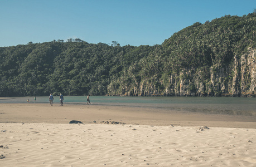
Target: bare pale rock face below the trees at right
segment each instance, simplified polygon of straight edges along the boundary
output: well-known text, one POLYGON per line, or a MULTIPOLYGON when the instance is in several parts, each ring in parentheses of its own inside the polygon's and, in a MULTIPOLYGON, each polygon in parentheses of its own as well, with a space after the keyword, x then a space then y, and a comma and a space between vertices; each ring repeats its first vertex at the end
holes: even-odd
POLYGON ((256 50, 248 48, 248 52, 242 56, 234 56, 228 66, 183 69, 180 73, 168 76, 167 84, 164 84, 162 77, 156 76, 130 85, 119 84, 118 88, 112 82, 108 86, 108 92, 111 96, 255 97, 255 56, 256 50))

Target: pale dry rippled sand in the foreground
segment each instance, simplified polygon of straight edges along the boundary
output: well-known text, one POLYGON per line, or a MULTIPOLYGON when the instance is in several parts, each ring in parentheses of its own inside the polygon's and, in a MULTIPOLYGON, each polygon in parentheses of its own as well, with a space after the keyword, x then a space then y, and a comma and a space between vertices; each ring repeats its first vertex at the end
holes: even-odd
POLYGON ((1 166, 256 166, 256 129, 0 123, 1 166))

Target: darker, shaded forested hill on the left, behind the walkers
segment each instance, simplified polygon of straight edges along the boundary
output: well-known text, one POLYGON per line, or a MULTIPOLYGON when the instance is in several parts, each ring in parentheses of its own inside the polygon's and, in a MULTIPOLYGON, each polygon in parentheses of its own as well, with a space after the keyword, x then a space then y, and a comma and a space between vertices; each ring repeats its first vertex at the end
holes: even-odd
POLYGON ((112 78, 152 50, 56 41, 0 47, 0 95, 104 95, 112 78))

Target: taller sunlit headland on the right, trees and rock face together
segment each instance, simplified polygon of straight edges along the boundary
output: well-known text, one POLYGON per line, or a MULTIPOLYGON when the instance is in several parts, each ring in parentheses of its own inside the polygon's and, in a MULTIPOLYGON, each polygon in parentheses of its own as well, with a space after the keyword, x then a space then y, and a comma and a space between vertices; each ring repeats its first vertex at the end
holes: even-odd
POLYGON ((256 14, 174 33, 108 85, 113 96, 255 97, 256 14))

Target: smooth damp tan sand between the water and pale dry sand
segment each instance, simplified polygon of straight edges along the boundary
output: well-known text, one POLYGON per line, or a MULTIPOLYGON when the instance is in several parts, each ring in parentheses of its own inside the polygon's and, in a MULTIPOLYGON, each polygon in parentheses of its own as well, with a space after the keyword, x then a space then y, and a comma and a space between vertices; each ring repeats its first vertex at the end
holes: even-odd
POLYGON ((78 120, 84 124, 115 121, 131 125, 211 126, 256 129, 255 116, 204 114, 202 112, 156 109, 153 107, 87 105, 87 104, 0 104, 2 123, 68 124, 78 120))

